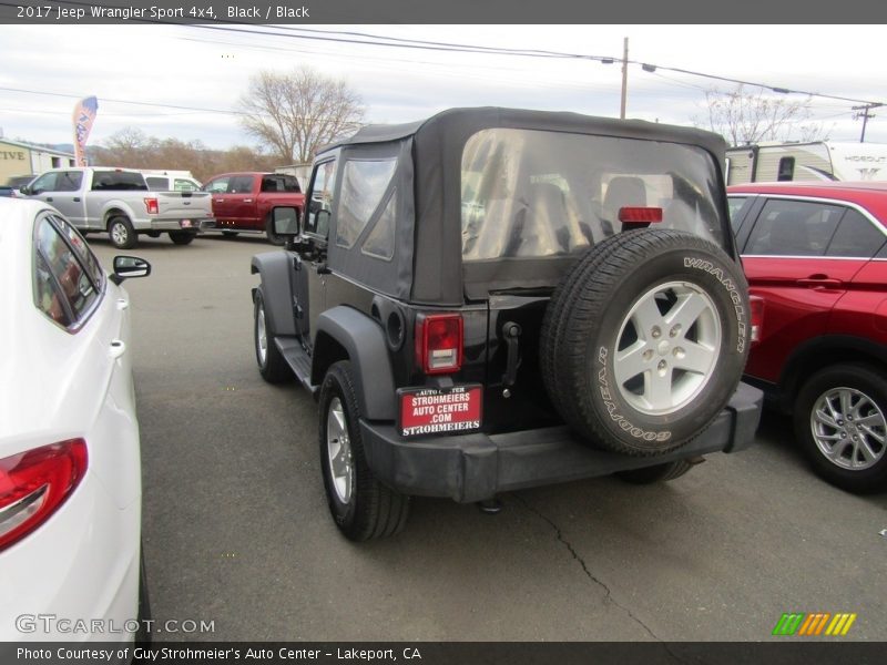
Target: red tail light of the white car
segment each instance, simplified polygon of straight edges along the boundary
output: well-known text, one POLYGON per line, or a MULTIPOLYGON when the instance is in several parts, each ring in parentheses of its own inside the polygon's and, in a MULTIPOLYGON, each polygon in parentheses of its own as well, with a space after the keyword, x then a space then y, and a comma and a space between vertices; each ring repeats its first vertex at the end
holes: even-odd
POLYGON ((70 439, 0 460, 0 551, 45 522, 86 472, 86 442, 70 439))

